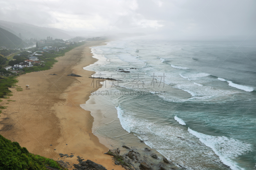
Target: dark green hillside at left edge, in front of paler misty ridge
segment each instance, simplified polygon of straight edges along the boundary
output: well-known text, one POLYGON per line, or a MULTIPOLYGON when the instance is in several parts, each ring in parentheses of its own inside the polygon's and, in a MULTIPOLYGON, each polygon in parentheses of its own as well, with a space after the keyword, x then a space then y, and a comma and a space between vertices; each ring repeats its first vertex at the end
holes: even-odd
POLYGON ((24 48, 28 46, 27 43, 22 42, 23 41, 13 33, 0 28, 0 47, 4 46, 6 48, 24 48))

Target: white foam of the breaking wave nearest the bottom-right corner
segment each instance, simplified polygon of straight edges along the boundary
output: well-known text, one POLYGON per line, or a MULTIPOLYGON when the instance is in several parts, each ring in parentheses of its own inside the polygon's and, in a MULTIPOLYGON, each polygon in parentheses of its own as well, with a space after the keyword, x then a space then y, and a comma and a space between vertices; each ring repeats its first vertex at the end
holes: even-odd
POLYGON ((250 144, 245 144, 234 138, 224 136, 211 136, 199 133, 188 128, 188 132, 199 138, 199 140, 206 146, 212 148, 213 152, 219 156, 221 162, 230 166, 233 170, 243 170, 244 168, 236 165, 235 159, 239 155, 243 155, 252 150, 250 144))

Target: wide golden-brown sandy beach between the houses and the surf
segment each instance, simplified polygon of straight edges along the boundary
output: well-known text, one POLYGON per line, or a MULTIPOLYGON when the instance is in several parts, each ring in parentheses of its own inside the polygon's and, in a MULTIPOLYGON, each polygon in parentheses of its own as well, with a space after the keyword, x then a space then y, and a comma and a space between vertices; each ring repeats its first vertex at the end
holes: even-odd
POLYGON ((93 117, 80 107, 89 99, 91 91, 97 90, 90 86, 92 80, 97 80, 88 78, 94 72, 83 67, 97 61, 89 47, 99 45, 105 43, 88 42, 58 57, 58 63, 50 70, 21 75, 17 85, 23 91, 11 88, 13 96, 1 102, 8 107, 0 117, 0 134, 19 142, 31 153, 54 160, 59 158, 70 165, 77 164, 76 156, 80 156, 110 170, 124 169, 115 166, 112 158, 104 154, 108 148, 92 134, 93 117), (53 73, 57 76, 49 75, 53 73), (67 76, 70 73, 82 77, 67 76), (30 90, 25 90, 25 85, 29 85, 30 90), (59 153, 73 153, 74 157, 62 159, 59 153))

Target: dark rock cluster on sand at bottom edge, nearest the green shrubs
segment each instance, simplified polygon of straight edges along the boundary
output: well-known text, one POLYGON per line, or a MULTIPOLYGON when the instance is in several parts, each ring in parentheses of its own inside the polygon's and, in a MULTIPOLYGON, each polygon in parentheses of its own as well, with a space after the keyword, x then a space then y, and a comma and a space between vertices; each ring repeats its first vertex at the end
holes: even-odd
POLYGON ((91 160, 81 161, 79 164, 73 164, 76 170, 107 170, 104 166, 97 164, 91 160))

